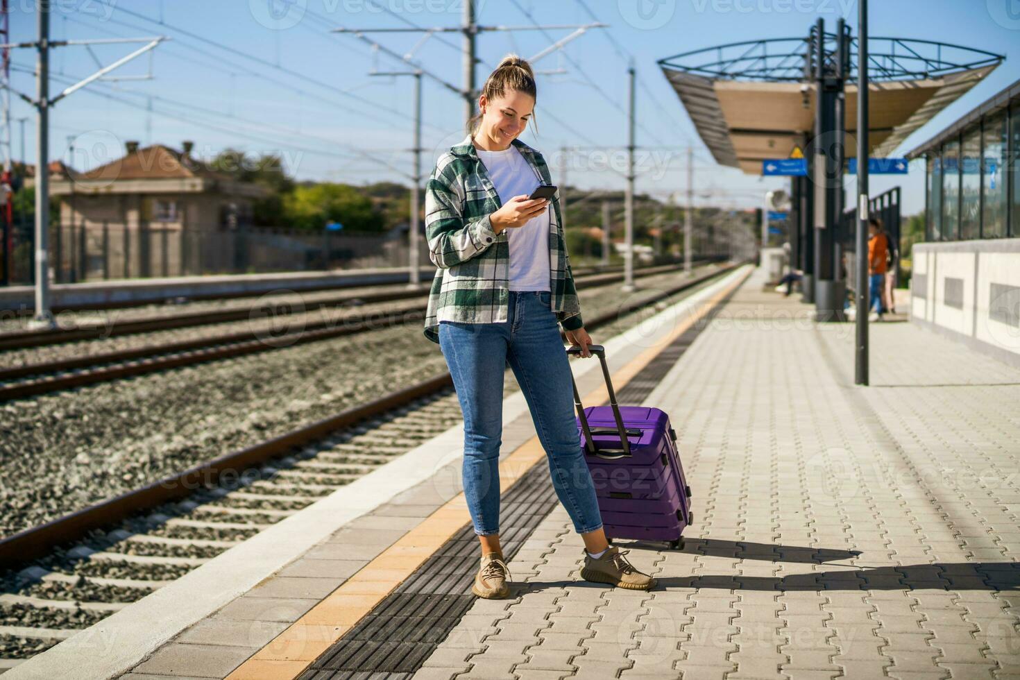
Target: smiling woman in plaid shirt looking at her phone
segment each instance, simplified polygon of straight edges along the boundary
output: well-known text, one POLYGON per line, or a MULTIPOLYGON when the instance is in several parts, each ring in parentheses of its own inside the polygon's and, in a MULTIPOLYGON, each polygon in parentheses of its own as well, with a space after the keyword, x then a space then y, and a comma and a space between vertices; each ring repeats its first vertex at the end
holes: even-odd
POLYGON ((580 450, 567 339, 590 357, 560 227, 559 194, 529 200, 551 185, 542 154, 517 139, 532 117, 534 73, 507 55, 486 81, 468 135, 436 163, 425 187, 425 234, 437 265, 425 336, 439 343, 464 413, 464 495, 481 546, 472 591, 506 597, 509 570, 500 546, 499 455, 503 372, 513 369, 549 458, 556 493, 584 541, 581 577, 648 589, 602 528, 595 486, 580 450))

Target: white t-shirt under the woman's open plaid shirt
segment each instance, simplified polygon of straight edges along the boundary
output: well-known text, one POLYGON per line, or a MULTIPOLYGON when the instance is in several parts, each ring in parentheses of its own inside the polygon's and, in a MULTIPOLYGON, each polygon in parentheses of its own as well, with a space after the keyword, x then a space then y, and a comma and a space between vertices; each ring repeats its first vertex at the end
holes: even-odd
MULTIPOLYGON (((500 201, 506 203, 514 196, 531 195, 540 184, 534 170, 510 145, 503 151, 475 149, 478 158, 489 171, 500 201)), ((510 246, 510 290, 550 291, 549 285, 549 211, 552 204, 538 217, 523 226, 506 229, 510 246)))

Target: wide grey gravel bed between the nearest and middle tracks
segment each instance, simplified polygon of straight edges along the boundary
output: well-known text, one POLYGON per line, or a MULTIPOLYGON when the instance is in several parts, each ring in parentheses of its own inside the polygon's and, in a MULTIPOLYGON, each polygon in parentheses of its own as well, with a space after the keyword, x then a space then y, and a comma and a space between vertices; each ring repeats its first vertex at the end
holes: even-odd
MULTIPOLYGON (((581 292, 593 317, 682 274, 581 292)), ((632 321, 613 325, 625 327, 632 321)), ((596 331, 596 342, 618 332, 596 331)), ((446 370, 421 322, 0 406, 0 536, 335 415, 446 370)), ((243 500, 228 502, 246 506, 243 500)), ((280 500, 278 509, 304 503, 280 500)))

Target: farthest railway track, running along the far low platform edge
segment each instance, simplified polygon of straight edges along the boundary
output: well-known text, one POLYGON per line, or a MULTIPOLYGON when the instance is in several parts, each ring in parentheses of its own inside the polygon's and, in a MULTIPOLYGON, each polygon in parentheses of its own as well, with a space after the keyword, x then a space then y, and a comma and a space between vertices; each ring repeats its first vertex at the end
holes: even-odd
MULTIPOLYGON (((675 264, 659 265, 655 267, 641 267, 635 270, 636 275, 647 276, 662 271, 676 268, 675 264)), ((615 271, 592 272, 583 275, 578 274, 577 281, 586 284, 611 283, 622 280, 623 274, 615 271)), ((394 290, 374 291, 371 293, 359 294, 356 290, 343 295, 332 296, 314 301, 302 301, 300 305, 283 304, 274 307, 271 313, 274 316, 287 314, 314 312, 320 309, 336 307, 351 307, 375 303, 396 302, 400 300, 410 300, 423 298, 427 295, 427 287, 420 290, 407 290, 406 287, 395 286, 394 290), (298 309, 300 307, 300 309, 298 309)), ((271 301, 270 301, 271 303, 271 301)), ((264 308, 265 304, 256 308, 252 306, 233 307, 230 309, 205 310, 199 312, 186 312, 183 314, 168 314, 163 316, 128 318, 114 321, 112 324, 92 323, 81 324, 67 327, 53 328, 52 330, 16 330, 0 333, 0 352, 6 350, 20 350, 33 347, 46 347, 49 345, 59 345, 76 341, 98 339, 113 337, 117 335, 130 335, 135 333, 152 332, 154 330, 169 330, 172 328, 189 328, 193 326, 210 325, 216 323, 227 323, 230 321, 244 321, 250 319, 253 313, 264 308)))

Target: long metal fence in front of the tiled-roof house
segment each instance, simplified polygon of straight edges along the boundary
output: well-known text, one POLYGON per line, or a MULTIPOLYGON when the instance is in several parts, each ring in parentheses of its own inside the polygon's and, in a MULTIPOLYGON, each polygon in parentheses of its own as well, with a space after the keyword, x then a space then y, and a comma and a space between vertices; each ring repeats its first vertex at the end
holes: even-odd
MULTIPOLYGON (((35 282, 31 224, 11 230, 12 285, 35 282)), ((424 236, 419 261, 430 266, 424 236)), ((57 283, 407 266, 407 232, 310 232, 241 226, 181 227, 158 222, 61 224, 50 227, 50 268, 57 283)))

